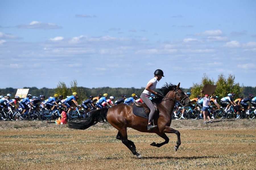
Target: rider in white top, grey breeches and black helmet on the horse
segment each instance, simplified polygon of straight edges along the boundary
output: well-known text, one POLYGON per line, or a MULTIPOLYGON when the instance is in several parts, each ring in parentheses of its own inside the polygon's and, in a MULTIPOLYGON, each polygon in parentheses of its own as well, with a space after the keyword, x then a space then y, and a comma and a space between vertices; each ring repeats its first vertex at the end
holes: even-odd
MULTIPOLYGON (((141 93, 142 101, 150 109, 150 113, 148 116, 148 125, 147 125, 148 130, 157 128, 157 126, 154 126, 154 124, 152 124, 152 118, 156 112, 156 109, 155 109, 153 103, 151 102, 151 100, 149 99, 149 97, 150 97, 151 93, 157 95, 157 92, 155 92, 154 89, 156 88, 157 81, 160 81, 162 79, 162 77, 164 77, 164 72, 160 69, 157 69, 154 72, 154 78, 152 78, 151 80, 148 81, 145 90, 141 93)), ((134 94, 134 96, 135 96, 135 94, 134 94)))

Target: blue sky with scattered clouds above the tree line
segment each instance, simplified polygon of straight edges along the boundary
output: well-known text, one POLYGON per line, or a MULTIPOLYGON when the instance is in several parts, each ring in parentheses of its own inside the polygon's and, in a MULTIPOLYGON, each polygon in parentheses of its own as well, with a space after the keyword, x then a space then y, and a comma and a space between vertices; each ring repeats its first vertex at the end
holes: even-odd
POLYGON ((0 1, 0 88, 256 86, 256 1, 0 1))

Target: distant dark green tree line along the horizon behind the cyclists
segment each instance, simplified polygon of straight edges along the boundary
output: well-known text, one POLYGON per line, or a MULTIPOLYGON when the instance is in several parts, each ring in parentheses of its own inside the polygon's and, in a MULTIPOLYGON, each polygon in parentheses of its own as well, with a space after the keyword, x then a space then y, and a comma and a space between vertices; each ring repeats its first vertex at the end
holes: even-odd
MULTIPOLYGON (((228 93, 235 93, 236 98, 238 98, 240 95, 243 95, 244 97, 247 97, 249 94, 256 95, 256 87, 241 87, 239 83, 234 82, 235 76, 229 75, 228 78, 226 78, 223 74, 220 74, 218 76, 218 80, 214 82, 214 80, 211 80, 208 78, 206 74, 202 77, 201 83, 193 84, 193 87, 189 89, 181 88, 183 92, 191 92, 191 99, 196 97, 197 95, 201 95, 201 90, 203 89, 203 86, 205 83, 211 84, 211 85, 217 85, 217 88, 214 92, 214 95, 218 95, 219 98, 227 96, 228 93)), ((163 83, 162 85, 164 85, 163 83)), ((161 88, 160 83, 158 83, 158 87, 161 88)), ((83 100, 88 99, 90 95, 96 97, 98 94, 103 95, 104 93, 107 93, 109 96, 115 96, 115 99, 121 98, 122 95, 126 95, 127 97, 131 97, 131 94, 135 93, 138 98, 140 98, 141 93, 145 89, 145 87, 141 88, 111 88, 111 87, 98 87, 98 88, 86 88, 86 87, 78 87, 77 81, 73 80, 70 82, 70 87, 67 86, 64 82, 59 82, 57 85, 57 88, 49 89, 49 88, 41 88, 38 89, 36 87, 23 87, 23 88, 29 88, 29 94, 32 96, 39 96, 41 94, 45 95, 46 98, 49 96, 53 96, 54 94, 63 95, 64 98, 66 96, 72 95, 73 92, 77 92, 79 100, 78 103, 80 104, 83 100)), ((157 91, 157 89, 156 89, 157 91)), ((15 88, 5 88, 0 89, 0 95, 7 95, 10 93, 13 97, 15 96, 17 92, 17 89, 15 88)), ((13 98, 12 97, 12 98, 13 98)))

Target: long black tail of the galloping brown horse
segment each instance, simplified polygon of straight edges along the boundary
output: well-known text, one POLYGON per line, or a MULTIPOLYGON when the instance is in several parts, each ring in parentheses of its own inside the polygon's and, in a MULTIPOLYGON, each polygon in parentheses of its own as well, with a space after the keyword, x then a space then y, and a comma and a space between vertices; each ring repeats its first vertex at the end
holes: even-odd
POLYGON ((87 129, 90 126, 101 123, 108 123, 107 120, 108 108, 102 108, 100 110, 95 110, 90 112, 90 116, 87 118, 83 118, 78 120, 77 122, 69 121, 67 123, 67 127, 71 129, 87 129))

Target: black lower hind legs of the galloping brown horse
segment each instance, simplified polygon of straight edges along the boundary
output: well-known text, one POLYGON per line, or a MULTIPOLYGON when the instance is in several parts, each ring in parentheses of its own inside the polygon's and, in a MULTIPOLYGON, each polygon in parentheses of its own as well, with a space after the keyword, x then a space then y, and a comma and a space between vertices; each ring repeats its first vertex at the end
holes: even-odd
POLYGON ((121 140, 122 143, 127 146, 127 148, 133 153, 133 155, 136 155, 137 158, 141 158, 142 156, 136 152, 136 146, 134 145, 133 141, 130 141, 127 139, 127 132, 124 131, 123 134, 118 131, 116 135, 116 139, 121 140))

